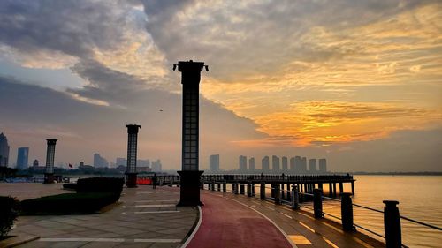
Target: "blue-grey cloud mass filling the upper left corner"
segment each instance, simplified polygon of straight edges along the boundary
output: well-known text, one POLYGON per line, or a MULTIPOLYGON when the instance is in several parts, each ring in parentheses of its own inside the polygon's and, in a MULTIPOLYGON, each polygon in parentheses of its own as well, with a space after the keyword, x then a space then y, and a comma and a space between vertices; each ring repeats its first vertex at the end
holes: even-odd
POLYGON ((111 49, 122 40, 126 20, 118 14, 123 2, 0 2, 0 42, 21 52, 56 50, 89 56, 95 47, 111 49))

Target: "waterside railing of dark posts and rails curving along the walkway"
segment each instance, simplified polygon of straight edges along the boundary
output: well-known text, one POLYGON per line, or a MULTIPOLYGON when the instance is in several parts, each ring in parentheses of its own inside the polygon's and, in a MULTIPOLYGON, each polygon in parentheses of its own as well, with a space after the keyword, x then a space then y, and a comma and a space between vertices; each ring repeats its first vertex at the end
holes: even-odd
MULTIPOLYGON (((400 221, 408 221, 413 222, 415 224, 421 225, 426 228, 435 229, 438 231, 442 231, 440 227, 435 225, 431 225, 429 223, 416 221, 414 219, 401 216, 399 214, 399 208, 397 207, 398 201, 394 200, 385 200, 384 211, 378 210, 373 207, 366 207, 359 204, 355 204, 352 202, 351 193, 342 193, 340 195, 340 199, 330 198, 323 196, 322 189, 314 189, 313 193, 309 192, 299 192, 298 186, 293 184, 291 190, 281 189, 280 184, 271 184, 271 186, 267 186, 266 184, 260 184, 258 187, 260 188, 259 194, 255 193, 255 184, 252 183, 232 183, 232 191, 228 191, 226 188, 226 183, 217 182, 208 182, 209 190, 211 191, 223 191, 223 192, 232 192, 234 194, 243 194, 248 197, 257 197, 263 200, 271 200, 277 205, 286 205, 293 210, 297 210, 300 208, 306 208, 309 211, 312 211, 316 219, 324 218, 324 216, 329 216, 332 219, 336 219, 342 224, 342 229, 347 232, 354 231, 356 229, 362 229, 372 235, 380 237, 385 240, 386 247, 408 247, 405 244, 402 244, 401 240, 401 229, 400 229, 400 221), (216 187, 217 185, 217 187, 216 187), (271 194, 268 196, 267 191, 269 190, 271 194), (310 207, 306 203, 306 201, 313 201, 313 207, 310 207), (335 214, 326 213, 323 210, 323 201, 331 200, 340 203, 341 214, 340 217, 335 214), (304 201, 304 203, 302 202, 304 201), (378 214, 384 215, 384 229, 385 235, 378 233, 377 231, 364 227, 362 225, 354 223, 354 215, 353 209, 354 207, 360 207, 365 210, 369 210, 372 212, 376 212, 378 214)), ((203 184, 202 184, 203 188, 203 184)))

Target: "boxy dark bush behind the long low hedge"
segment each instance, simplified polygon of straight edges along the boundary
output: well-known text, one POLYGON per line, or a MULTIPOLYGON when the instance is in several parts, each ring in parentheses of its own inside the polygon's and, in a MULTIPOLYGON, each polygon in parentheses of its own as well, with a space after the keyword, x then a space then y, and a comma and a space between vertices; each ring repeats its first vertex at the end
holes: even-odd
POLYGON ((89 177, 77 181, 76 190, 82 192, 113 192, 119 195, 123 190, 124 180, 121 177, 89 177))

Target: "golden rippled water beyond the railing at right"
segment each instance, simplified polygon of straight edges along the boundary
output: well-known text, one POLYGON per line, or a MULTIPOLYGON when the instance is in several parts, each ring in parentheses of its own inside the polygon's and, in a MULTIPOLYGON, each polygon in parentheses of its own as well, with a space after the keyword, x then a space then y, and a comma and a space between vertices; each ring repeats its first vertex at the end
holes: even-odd
MULTIPOLYGON (((354 179, 354 203, 384 210, 383 200, 398 200, 401 216, 442 227, 442 176, 356 175, 354 179)), ((324 184, 325 196, 328 195, 327 190, 328 185, 324 184)), ((344 184, 344 192, 351 192, 350 184, 344 184)), ((340 217, 340 203, 325 200, 323 211, 340 217)), ((385 236, 384 215, 381 213, 354 207, 354 223, 385 236)), ((442 231, 403 219, 400 223, 402 243, 408 247, 442 247, 442 231)), ((384 241, 383 238, 369 235, 384 241)))

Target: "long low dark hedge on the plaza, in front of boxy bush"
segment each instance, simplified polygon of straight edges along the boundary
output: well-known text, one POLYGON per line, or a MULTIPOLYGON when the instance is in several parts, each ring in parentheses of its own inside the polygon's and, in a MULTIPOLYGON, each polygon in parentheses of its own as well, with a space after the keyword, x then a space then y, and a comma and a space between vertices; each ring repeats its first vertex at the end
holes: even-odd
POLYGON ((93 214, 119 199, 114 192, 65 193, 21 201, 21 213, 93 214))

